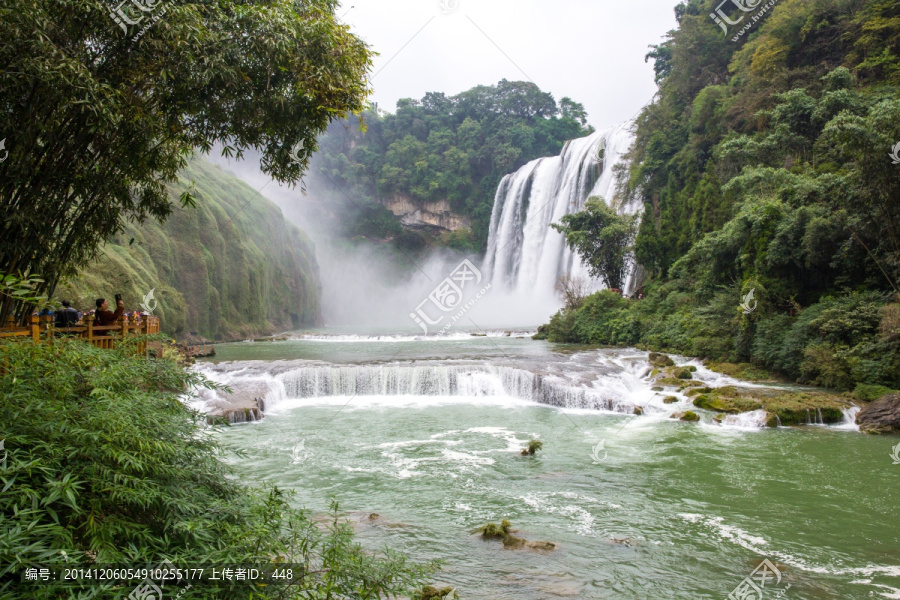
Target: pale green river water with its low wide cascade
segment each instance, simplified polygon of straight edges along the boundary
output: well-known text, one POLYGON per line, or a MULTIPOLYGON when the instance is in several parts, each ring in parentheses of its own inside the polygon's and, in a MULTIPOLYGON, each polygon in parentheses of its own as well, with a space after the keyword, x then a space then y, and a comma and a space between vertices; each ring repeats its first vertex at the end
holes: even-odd
POLYGON ((263 421, 222 434, 243 451, 232 462, 248 481, 296 490, 314 511, 337 497, 367 546, 444 560, 439 583, 464 599, 724 599, 763 559, 782 578, 766 598, 900 598, 896 439, 849 426, 669 419, 678 406, 642 387, 634 350, 502 333, 321 337, 221 345, 215 371, 203 366, 235 382, 288 382, 263 421), (361 383, 372 369, 416 379, 448 365, 474 373, 452 393, 420 382, 413 391, 429 393, 377 394, 361 383), (310 366, 355 373, 356 393, 291 398, 285 390, 300 376, 290 373, 310 366), (503 393, 502 367, 608 390, 625 410, 503 393), (646 416, 624 414, 630 402, 646 416), (523 458, 529 439, 544 448, 523 458), (557 548, 506 550, 471 533, 503 518, 557 548))

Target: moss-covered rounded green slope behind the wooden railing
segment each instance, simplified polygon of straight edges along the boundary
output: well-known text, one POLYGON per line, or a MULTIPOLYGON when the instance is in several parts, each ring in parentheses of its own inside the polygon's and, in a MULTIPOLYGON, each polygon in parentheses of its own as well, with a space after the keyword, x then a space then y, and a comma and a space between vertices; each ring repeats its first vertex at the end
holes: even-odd
POLYGON ((319 276, 309 238, 273 203, 201 159, 170 187, 176 203, 192 182, 196 207, 176 208, 162 224, 129 224, 57 298, 87 310, 95 298, 113 304, 121 293, 128 310, 141 310, 154 290, 163 331, 187 340, 317 324, 319 276))

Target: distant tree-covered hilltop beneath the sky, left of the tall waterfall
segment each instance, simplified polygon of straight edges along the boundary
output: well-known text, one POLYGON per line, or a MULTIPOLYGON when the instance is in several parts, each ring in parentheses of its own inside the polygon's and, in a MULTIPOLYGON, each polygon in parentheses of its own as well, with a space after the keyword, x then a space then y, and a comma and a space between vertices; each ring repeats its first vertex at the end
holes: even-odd
POLYGON ((503 176, 593 131, 581 104, 557 103, 533 83, 506 80, 456 96, 401 100, 396 114, 369 110, 363 123, 364 130, 358 120, 332 124, 319 139, 313 170, 337 188, 329 202, 346 208, 348 237, 394 237, 413 249, 422 240, 404 233, 382 202, 443 202, 472 226, 441 243, 480 248, 503 176))

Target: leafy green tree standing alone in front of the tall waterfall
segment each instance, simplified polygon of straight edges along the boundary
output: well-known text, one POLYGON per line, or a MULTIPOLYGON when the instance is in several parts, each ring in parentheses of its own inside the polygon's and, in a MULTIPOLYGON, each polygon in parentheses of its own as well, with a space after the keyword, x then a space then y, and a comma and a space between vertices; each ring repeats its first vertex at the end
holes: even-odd
POLYGON ((603 198, 594 196, 583 211, 565 215, 551 227, 566 236, 566 244, 587 263, 593 277, 611 289, 622 289, 636 225, 636 216, 620 215, 603 198))

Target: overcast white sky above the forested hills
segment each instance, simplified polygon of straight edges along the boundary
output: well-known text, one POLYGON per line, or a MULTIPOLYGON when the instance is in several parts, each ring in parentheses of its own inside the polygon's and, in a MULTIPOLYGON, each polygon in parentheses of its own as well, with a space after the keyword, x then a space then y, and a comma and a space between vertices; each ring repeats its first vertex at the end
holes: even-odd
POLYGON ((425 92, 530 79, 584 104, 604 129, 653 97, 644 55, 675 27, 677 2, 344 0, 337 14, 380 53, 372 86, 382 109, 425 92))

